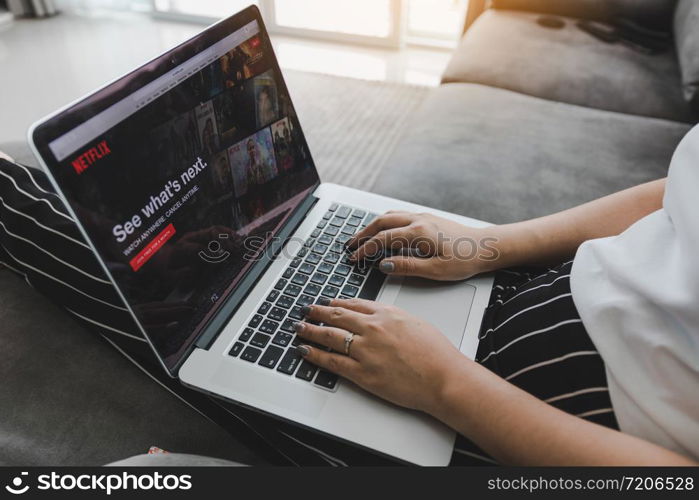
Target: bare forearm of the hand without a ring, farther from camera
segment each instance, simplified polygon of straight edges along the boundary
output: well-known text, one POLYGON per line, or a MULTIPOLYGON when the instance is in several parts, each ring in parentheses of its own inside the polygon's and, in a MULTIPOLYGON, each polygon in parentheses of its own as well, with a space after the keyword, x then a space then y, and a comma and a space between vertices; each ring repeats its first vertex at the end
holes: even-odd
POLYGON ((584 241, 613 236, 662 207, 665 179, 641 184, 553 215, 491 226, 495 267, 547 265, 572 257, 584 241))

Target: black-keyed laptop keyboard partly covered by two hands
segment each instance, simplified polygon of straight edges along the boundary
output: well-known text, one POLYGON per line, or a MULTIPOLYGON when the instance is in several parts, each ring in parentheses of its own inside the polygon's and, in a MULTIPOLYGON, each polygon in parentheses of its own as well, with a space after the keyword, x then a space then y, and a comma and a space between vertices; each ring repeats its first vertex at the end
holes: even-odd
POLYGON ((333 203, 228 354, 316 387, 335 390, 337 375, 319 370, 296 351, 301 343, 314 344, 296 336, 294 323, 303 319, 303 306, 317 303, 321 297, 376 298, 384 275, 369 264, 353 265, 344 250, 352 235, 375 217, 365 210, 333 203))

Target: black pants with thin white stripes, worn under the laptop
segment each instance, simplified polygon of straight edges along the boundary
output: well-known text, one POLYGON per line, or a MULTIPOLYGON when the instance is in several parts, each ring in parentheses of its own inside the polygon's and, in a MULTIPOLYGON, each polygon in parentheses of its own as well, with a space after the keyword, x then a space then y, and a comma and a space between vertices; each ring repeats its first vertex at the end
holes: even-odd
MULTIPOLYGON (((43 172, 0 159, 0 264, 100 334, 163 389, 251 442, 274 463, 391 462, 292 424, 182 387, 162 370, 43 172)), ((476 360, 563 411, 617 428, 604 364, 570 293, 571 262, 496 278, 476 360)), ((5 272, 5 271, 0 271, 5 272)), ((513 415, 513 425, 516 425, 513 415)), ((186 450, 173 450, 186 451, 186 450)), ((494 463, 459 437, 453 465, 494 463)))

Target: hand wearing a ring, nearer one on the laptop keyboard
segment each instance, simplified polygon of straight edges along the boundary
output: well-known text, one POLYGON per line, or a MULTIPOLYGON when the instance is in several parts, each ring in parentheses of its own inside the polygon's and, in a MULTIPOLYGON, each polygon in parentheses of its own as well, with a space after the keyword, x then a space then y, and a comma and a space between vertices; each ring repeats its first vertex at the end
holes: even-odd
POLYGON ((469 362, 434 326, 393 306, 336 299, 309 306, 306 318, 324 326, 299 322, 299 337, 335 352, 299 346, 305 359, 408 408, 436 411, 446 370, 469 362))

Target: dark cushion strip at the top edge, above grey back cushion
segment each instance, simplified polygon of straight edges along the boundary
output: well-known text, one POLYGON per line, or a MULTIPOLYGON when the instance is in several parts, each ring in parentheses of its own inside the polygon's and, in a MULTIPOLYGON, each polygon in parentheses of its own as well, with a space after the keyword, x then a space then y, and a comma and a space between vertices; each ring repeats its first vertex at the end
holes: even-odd
POLYGON ((669 30, 676 3, 677 0, 493 0, 493 7, 601 21, 622 17, 649 28, 669 30))

